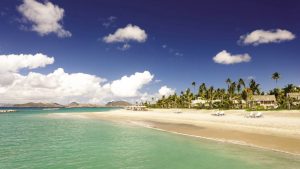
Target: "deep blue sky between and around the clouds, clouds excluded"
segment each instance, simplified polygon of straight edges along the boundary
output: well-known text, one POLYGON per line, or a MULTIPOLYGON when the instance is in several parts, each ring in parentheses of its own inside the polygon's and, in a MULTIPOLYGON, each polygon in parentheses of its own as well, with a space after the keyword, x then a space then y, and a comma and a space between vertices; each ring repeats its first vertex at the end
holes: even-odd
MULTIPOLYGON (((0 55, 43 53, 54 57, 55 62, 35 72, 48 74, 63 68, 68 73, 83 72, 108 81, 148 70, 154 75, 152 82, 142 89, 148 93, 156 92, 163 85, 180 92, 190 87, 192 81, 225 87, 228 77, 233 80, 255 77, 263 90, 269 90, 276 86, 271 79, 275 71, 282 75, 278 86, 300 84, 298 1, 49 2, 64 10, 59 23, 72 36, 58 37, 55 32, 40 35, 17 9, 23 1, 1 0, 0 55), (147 39, 144 42, 103 41, 105 36, 128 24, 144 30, 147 39), (286 30, 294 37, 258 45, 238 42, 240 36, 255 30, 275 32, 277 29, 286 30), (130 48, 120 50, 124 44, 130 48), (223 50, 232 55, 248 54, 251 60, 235 64, 214 62, 213 57, 223 50)), ((21 72, 26 74, 28 70, 21 72)))

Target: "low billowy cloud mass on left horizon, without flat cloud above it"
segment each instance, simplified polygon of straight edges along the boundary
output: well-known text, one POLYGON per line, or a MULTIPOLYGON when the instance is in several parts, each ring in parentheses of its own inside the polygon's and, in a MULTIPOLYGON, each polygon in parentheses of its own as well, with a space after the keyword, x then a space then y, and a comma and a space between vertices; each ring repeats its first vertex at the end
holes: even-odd
POLYGON ((14 82, 2 88, 2 102, 68 102, 87 101, 100 97, 105 90, 101 87, 104 79, 84 74, 65 73, 62 68, 50 74, 30 72, 28 75, 13 74, 14 82))

